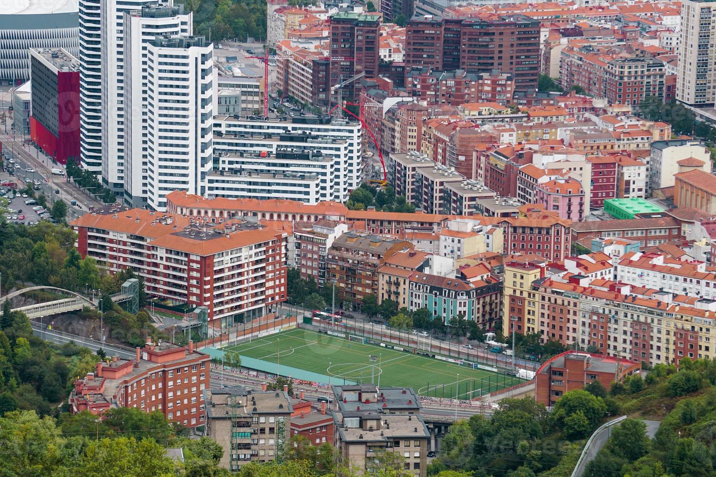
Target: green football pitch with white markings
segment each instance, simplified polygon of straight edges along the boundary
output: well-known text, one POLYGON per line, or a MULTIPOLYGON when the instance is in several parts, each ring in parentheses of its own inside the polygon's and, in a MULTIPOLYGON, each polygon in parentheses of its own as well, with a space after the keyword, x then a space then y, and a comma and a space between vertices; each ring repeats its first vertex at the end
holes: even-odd
MULTIPOLYGON (((437 398, 477 398, 521 383, 511 375, 473 369, 407 351, 364 344, 303 328, 256 338, 225 348, 239 355, 321 373, 332 384, 344 379, 358 383, 413 388, 420 395, 437 398), (377 358, 371 363, 369 356, 377 358)), ((412 351, 412 350, 410 350, 412 351)))

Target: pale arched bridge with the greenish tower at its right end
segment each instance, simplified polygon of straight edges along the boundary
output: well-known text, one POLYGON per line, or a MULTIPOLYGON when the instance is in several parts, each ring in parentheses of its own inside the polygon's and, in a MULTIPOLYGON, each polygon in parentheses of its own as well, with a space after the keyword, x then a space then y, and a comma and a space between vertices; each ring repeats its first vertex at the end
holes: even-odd
MULTIPOLYGON (((114 303, 127 302, 127 308, 132 313, 137 313, 137 305, 139 301, 139 281, 136 279, 127 280, 122 284, 122 291, 110 295, 114 303)), ((27 287, 21 290, 8 293, 4 297, 0 298, 0 305, 6 300, 11 300, 16 296, 22 295, 23 293, 30 292, 32 290, 57 290, 59 292, 68 293, 73 295, 69 298, 61 298, 59 300, 52 300, 46 303, 37 303, 35 305, 27 305, 19 308, 13 308, 12 311, 21 311, 30 320, 34 318, 42 318, 49 315, 58 315, 59 313, 69 313, 72 311, 82 310, 86 306, 92 306, 97 308, 100 304, 100 297, 96 300, 92 300, 84 295, 80 295, 77 292, 71 290, 64 290, 64 288, 50 287, 50 286, 39 286, 39 287, 27 287)))

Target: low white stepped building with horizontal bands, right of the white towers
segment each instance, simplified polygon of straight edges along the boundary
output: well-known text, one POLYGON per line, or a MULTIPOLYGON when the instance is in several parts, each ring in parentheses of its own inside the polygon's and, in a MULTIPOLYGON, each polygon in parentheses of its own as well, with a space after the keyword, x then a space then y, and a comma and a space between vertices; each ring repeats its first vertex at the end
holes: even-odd
MULTIPOLYGON (((225 116, 214 118, 213 129, 214 169, 318 174, 319 200, 337 202, 346 202, 350 191, 362 182, 359 122, 328 116, 291 120, 225 116)), ((217 190, 221 180, 216 174, 213 179, 213 190, 217 190)), ((234 192, 231 197, 239 195, 234 192)))

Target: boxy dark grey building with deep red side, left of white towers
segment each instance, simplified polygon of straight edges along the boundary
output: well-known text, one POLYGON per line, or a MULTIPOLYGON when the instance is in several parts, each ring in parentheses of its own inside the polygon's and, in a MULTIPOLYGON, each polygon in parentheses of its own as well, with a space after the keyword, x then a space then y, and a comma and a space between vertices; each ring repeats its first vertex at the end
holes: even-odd
POLYGON ((79 62, 62 48, 30 49, 30 137, 60 164, 79 163, 79 62))

